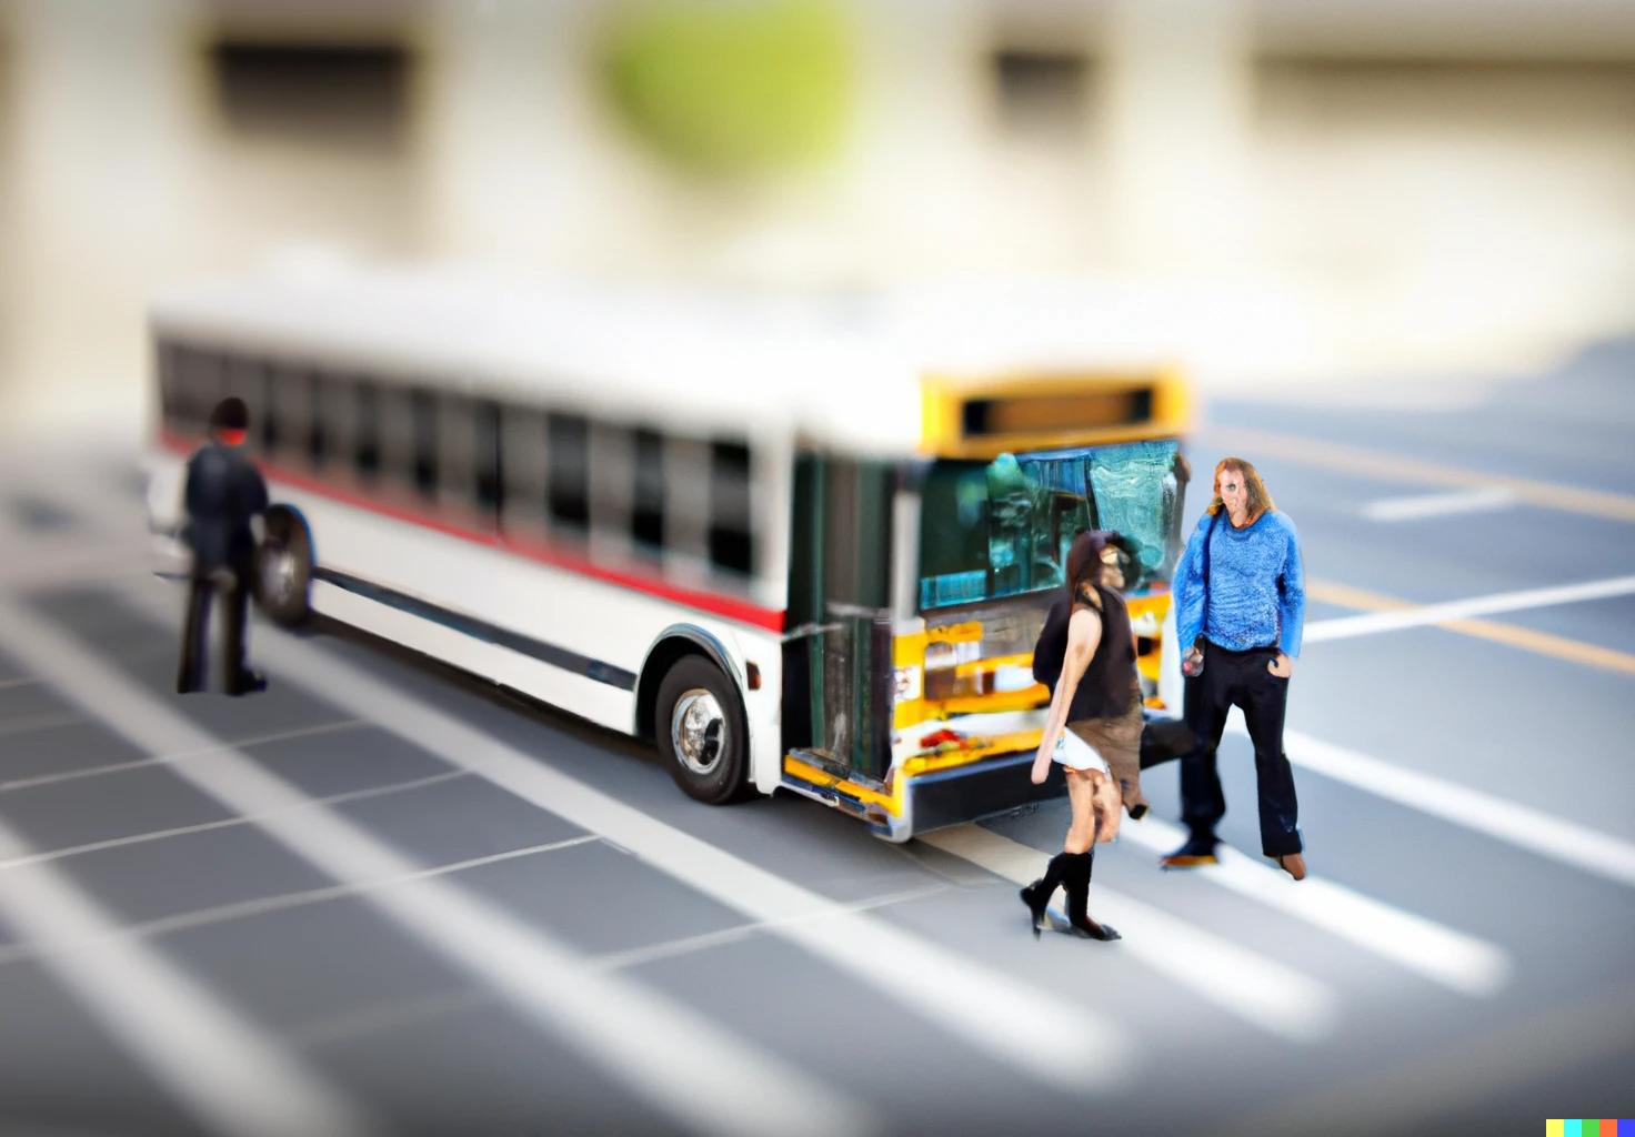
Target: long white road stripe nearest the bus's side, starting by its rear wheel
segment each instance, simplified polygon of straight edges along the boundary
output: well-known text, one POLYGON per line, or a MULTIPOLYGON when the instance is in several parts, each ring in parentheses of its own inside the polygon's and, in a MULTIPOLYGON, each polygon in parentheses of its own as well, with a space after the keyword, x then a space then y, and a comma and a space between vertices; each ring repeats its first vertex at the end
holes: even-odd
MULTIPOLYGON (((160 619, 177 603, 155 585, 126 593, 160 619)), ((1100 1093, 1133 1068, 1135 1044, 1115 1023, 983 967, 942 944, 847 912, 724 849, 631 809, 504 742, 425 706, 329 652, 267 629, 257 655, 347 714, 371 719, 450 765, 486 778, 628 849, 773 934, 940 1024, 994 1060, 1064 1093, 1100 1093), (1041 1031, 1040 1023, 1050 1023, 1041 1031)))

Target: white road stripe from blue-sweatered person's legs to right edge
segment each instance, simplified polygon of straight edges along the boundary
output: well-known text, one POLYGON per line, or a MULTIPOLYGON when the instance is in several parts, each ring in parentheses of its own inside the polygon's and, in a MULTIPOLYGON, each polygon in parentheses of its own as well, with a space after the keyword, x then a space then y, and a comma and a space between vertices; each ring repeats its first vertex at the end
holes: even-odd
MULTIPOLYGON (((1244 738, 1249 737, 1236 716, 1226 729, 1244 738)), ((1480 789, 1346 750, 1298 730, 1283 730, 1283 750, 1295 766, 1313 769, 1347 786, 1365 789, 1377 797, 1486 833, 1614 884, 1635 887, 1635 845, 1622 838, 1565 822, 1530 805, 1494 797, 1480 789)))

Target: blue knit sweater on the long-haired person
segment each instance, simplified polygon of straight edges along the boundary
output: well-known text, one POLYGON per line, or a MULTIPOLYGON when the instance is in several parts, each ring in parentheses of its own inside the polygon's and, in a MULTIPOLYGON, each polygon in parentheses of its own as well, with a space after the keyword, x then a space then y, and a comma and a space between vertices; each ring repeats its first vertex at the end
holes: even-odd
MULTIPOLYGON (((1203 622, 1203 536, 1210 521, 1208 513, 1198 519, 1176 565, 1176 632, 1182 650, 1192 647, 1203 622)), ((1298 658, 1305 619, 1306 585, 1295 523, 1274 510, 1234 529, 1221 508, 1210 542, 1210 622, 1203 635, 1233 652, 1275 644, 1298 658)))

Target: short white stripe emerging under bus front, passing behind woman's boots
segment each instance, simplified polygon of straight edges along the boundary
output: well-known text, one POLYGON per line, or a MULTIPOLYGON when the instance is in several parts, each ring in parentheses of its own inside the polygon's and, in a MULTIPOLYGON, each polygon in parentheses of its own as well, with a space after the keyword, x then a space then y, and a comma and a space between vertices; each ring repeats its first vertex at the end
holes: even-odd
MULTIPOLYGON (((1017 884, 1032 884, 1050 863, 1048 853, 979 825, 935 830, 919 840, 1017 884)), ((1311 1042, 1337 1021, 1334 993, 1287 964, 1102 885, 1092 887, 1091 905, 1097 920, 1123 936, 1118 951, 1264 1031, 1311 1042)))

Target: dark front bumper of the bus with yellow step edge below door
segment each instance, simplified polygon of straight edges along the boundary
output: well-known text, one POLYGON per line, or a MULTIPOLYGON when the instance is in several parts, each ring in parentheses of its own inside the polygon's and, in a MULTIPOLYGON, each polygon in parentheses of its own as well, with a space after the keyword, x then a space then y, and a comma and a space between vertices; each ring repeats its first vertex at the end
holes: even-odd
POLYGON ((1043 784, 1033 784, 1035 753, 991 755, 958 766, 898 774, 881 784, 796 751, 783 758, 782 787, 850 814, 876 836, 901 843, 932 830, 1066 797, 1068 784, 1058 763, 1050 765, 1043 784))

